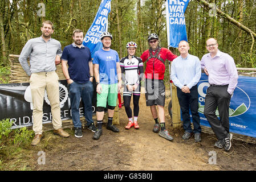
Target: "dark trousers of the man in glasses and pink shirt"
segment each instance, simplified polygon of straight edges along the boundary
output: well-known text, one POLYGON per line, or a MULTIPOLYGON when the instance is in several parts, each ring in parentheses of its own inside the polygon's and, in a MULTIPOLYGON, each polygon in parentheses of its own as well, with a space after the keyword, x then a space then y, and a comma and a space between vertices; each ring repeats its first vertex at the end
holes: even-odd
POLYGON ((204 114, 219 140, 226 138, 229 133, 229 104, 231 95, 227 92, 227 86, 209 86, 205 96, 204 114), (216 115, 217 107, 220 119, 216 115))

